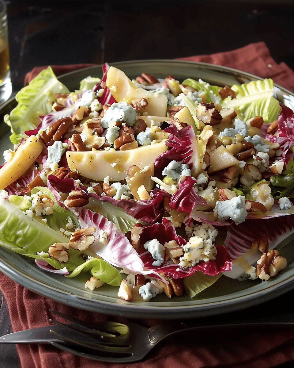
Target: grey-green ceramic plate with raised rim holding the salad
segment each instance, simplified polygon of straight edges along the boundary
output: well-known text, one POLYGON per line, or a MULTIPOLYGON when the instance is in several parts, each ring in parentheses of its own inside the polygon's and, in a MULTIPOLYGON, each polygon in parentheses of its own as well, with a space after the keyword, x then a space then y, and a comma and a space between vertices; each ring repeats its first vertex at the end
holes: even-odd
MULTIPOLYGON (((123 70, 131 79, 140 75, 141 72, 146 72, 158 78, 173 75, 180 81, 188 77, 193 79, 201 78, 206 82, 219 86, 230 86, 261 79, 231 68, 193 61, 140 60, 111 65, 123 70)), ((101 77, 101 66, 74 71, 61 76, 59 79, 70 91, 74 91, 79 88, 80 80, 89 75, 101 77)), ((284 105, 294 109, 294 96, 290 91, 276 86, 275 92, 276 97, 284 105)), ((13 98, 0 109, 1 151, 11 147, 8 139, 9 133, 6 125, 3 123, 3 116, 9 113, 15 105, 16 101, 13 98)), ((252 282, 250 280, 239 282, 223 276, 214 285, 198 294, 193 300, 188 296, 168 299, 165 295, 159 295, 150 302, 126 302, 117 297, 116 287, 104 284, 96 291, 86 290, 85 282, 88 278, 87 276, 79 275, 77 278, 67 279, 60 275, 46 273, 35 266, 31 259, 3 248, 0 248, 0 269, 15 282, 36 293, 88 311, 132 318, 209 316, 251 307, 261 301, 270 300, 293 289, 294 262, 292 241, 293 236, 288 237, 285 242, 290 244, 281 250, 281 254, 287 257, 288 267, 276 277, 266 282, 252 282)))

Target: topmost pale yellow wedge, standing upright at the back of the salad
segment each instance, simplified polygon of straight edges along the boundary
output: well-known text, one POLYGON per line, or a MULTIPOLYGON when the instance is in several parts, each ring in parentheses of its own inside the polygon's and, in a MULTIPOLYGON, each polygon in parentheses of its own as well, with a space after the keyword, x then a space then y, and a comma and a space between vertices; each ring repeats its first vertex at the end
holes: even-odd
POLYGON ((111 66, 107 72, 106 85, 117 102, 132 103, 134 100, 146 98, 148 105, 137 111, 138 113, 147 112, 148 115, 166 116, 167 97, 159 93, 146 91, 143 88, 137 88, 122 70, 111 66))

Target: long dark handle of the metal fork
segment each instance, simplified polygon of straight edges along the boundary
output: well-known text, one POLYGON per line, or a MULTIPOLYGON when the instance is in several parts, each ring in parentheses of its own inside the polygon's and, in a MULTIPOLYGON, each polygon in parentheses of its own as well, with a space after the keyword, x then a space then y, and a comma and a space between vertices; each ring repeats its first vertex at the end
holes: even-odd
POLYGON ((259 319, 258 321, 255 319, 246 319, 246 320, 232 320, 224 323, 206 323, 204 324, 201 321, 189 321, 189 322, 173 322, 164 325, 157 325, 151 327, 149 329, 149 341, 151 345, 157 344, 160 340, 165 337, 175 335, 180 332, 191 332, 191 331, 206 331, 216 330, 216 329, 248 329, 255 327, 294 327, 294 316, 291 315, 291 318, 286 319, 285 315, 281 315, 280 317, 276 317, 275 320, 269 321, 268 319, 259 319))

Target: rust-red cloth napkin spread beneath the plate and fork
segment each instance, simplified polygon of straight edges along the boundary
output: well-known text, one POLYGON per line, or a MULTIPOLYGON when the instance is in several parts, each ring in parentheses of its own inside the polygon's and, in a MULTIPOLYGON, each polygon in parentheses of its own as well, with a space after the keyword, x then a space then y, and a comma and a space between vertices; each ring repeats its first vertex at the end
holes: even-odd
MULTIPOLYGON (((263 78, 272 78, 277 84, 294 91, 294 73, 286 64, 276 64, 263 42, 251 44, 230 52, 204 56, 192 56, 184 60, 202 61, 247 71, 263 78)), ((53 66, 57 75, 90 66, 53 66)), ((40 70, 34 68, 26 77, 26 84, 40 70)), ((123 318, 91 313, 60 304, 20 286, 0 273, 1 290, 7 300, 14 331, 45 326, 52 316, 49 309, 68 315, 75 315, 84 321, 121 321, 123 318)), ((262 311, 261 311, 262 312, 262 311)), ((55 317, 55 316, 54 316, 55 317)), ((62 321, 62 318, 58 318, 62 321)), ((63 321, 65 322, 65 321, 63 321)), ((146 326, 159 321, 141 321, 146 326)), ((171 322, 171 321, 167 321, 171 322)), ((269 368, 294 360, 294 330, 272 330, 263 332, 251 330, 236 336, 222 332, 204 339, 194 339, 162 343, 143 362, 133 364, 111 364, 80 358, 50 346, 29 344, 18 345, 22 368, 269 368)))

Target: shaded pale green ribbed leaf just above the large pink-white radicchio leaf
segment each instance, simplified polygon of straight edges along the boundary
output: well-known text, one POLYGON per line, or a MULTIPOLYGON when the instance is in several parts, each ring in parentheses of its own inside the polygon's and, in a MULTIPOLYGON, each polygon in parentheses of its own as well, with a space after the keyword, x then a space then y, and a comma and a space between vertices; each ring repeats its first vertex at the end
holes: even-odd
POLYGON ((126 213, 123 208, 94 198, 90 198, 89 204, 87 204, 85 208, 100 213, 100 215, 106 217, 107 220, 113 222, 124 234, 132 230, 133 226, 138 222, 142 225, 147 225, 146 222, 137 220, 135 217, 126 213))

